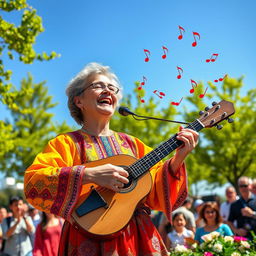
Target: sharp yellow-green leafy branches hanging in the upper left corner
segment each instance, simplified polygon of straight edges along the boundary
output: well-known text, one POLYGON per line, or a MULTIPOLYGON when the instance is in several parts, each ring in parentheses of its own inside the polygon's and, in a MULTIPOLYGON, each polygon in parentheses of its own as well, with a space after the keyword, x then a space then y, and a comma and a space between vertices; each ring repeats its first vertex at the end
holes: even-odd
MULTIPOLYGON (((0 104, 2 102, 8 109, 26 114, 30 110, 19 109, 16 98, 26 97, 29 90, 14 88, 10 82, 12 71, 5 66, 4 59, 18 58, 24 64, 32 64, 35 60, 51 60, 58 55, 55 52, 47 54, 37 53, 34 50, 36 38, 44 28, 41 17, 26 0, 0 0, 0 10, 5 14, 5 19, 0 15, 0 104), (17 17, 21 14, 20 22, 15 22, 16 24, 7 20, 12 17, 9 14, 15 12, 17 17)), ((7 124, 2 118, 0 118, 0 135, 1 157, 16 144, 12 125, 7 124)))

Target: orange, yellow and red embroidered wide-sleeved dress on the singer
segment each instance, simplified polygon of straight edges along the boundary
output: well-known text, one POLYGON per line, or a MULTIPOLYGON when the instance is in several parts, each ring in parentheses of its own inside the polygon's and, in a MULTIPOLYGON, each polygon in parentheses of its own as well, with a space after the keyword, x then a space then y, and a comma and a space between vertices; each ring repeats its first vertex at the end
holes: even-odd
POLYGON ((86 163, 118 154, 141 158, 152 149, 124 133, 114 132, 111 136, 96 137, 77 132, 83 136, 85 143, 76 141, 75 133, 59 135, 37 155, 25 173, 24 190, 29 203, 41 211, 51 212, 67 220, 63 227, 59 255, 168 255, 147 209, 163 211, 170 219, 172 210, 179 207, 187 197, 185 167, 182 166, 175 177, 170 174, 169 160, 152 167, 150 173, 153 186, 146 197, 145 207, 135 211, 129 224, 117 237, 104 241, 94 239, 78 232, 68 222, 83 191, 82 177, 84 170, 86 172, 86 163))

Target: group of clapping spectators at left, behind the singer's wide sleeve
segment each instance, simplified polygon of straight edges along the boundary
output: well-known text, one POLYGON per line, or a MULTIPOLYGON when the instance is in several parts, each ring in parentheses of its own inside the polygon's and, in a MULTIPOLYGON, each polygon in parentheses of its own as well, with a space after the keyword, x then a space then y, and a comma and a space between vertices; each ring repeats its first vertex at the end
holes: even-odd
POLYGON ((12 196, 8 211, 0 208, 1 256, 57 256, 62 219, 39 212, 12 196))

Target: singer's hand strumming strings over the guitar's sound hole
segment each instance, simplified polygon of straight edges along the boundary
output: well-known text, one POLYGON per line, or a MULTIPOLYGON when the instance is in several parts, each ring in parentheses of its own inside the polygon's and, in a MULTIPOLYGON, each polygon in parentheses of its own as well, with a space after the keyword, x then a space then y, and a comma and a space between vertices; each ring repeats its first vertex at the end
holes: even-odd
POLYGON ((83 184, 95 183, 101 187, 109 188, 115 192, 127 184, 129 173, 122 167, 104 164, 96 167, 86 167, 83 184))

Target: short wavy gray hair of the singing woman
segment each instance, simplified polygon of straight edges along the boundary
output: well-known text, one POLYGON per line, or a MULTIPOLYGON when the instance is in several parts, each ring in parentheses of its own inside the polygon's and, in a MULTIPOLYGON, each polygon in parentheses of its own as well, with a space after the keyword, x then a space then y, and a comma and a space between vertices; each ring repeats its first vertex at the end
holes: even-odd
POLYGON ((83 115, 74 102, 74 97, 79 96, 81 92, 86 88, 89 78, 92 75, 104 75, 108 77, 112 83, 119 88, 117 94, 118 102, 122 98, 123 88, 117 78, 117 76, 111 71, 109 66, 103 66, 101 64, 92 62, 87 64, 68 84, 66 89, 66 95, 68 96, 68 108, 71 116, 74 120, 83 125, 83 115))

